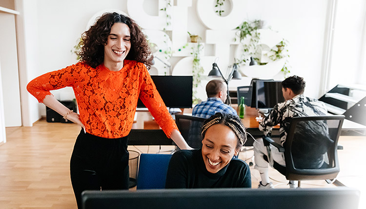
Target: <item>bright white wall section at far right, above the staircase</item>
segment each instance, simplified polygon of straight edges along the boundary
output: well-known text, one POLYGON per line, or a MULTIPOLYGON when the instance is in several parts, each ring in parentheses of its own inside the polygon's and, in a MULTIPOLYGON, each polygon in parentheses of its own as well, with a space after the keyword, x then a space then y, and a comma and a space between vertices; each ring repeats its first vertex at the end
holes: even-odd
POLYGON ((365 0, 337 1, 328 88, 337 84, 365 85, 365 15, 365 0))

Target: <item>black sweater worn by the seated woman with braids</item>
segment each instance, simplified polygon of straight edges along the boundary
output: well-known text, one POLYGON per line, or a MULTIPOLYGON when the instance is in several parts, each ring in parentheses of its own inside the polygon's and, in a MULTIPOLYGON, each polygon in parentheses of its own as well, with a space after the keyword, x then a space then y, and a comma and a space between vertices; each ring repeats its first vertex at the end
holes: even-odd
POLYGON ((216 174, 209 173, 203 162, 202 150, 180 150, 172 156, 165 188, 251 188, 248 164, 233 158, 216 174))

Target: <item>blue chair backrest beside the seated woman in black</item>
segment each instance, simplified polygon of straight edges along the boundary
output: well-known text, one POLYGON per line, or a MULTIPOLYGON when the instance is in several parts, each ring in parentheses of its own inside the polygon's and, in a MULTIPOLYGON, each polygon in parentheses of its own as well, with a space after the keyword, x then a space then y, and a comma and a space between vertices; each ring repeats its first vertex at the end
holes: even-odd
POLYGON ((172 155, 141 154, 137 189, 164 189, 166 173, 172 155))

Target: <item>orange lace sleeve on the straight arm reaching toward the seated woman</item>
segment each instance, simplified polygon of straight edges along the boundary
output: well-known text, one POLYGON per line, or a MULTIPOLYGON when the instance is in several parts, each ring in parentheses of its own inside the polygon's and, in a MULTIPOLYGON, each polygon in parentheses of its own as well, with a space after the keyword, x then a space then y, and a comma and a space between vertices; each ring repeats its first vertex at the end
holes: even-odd
POLYGON ((150 74, 146 70, 145 66, 143 66, 143 64, 141 65, 143 73, 141 78, 140 99, 149 109, 151 115, 155 118, 160 127, 162 127, 165 135, 170 138, 172 131, 174 129, 178 130, 178 127, 167 110, 150 74))

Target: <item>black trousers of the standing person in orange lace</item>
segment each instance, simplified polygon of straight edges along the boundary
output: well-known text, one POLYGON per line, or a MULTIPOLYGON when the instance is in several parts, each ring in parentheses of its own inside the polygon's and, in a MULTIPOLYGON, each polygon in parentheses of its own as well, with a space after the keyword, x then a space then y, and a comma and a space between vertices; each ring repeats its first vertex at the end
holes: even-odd
POLYGON ((70 160, 71 183, 79 209, 84 190, 128 189, 128 157, 127 136, 107 139, 81 129, 70 160))

